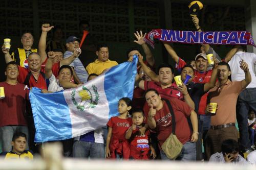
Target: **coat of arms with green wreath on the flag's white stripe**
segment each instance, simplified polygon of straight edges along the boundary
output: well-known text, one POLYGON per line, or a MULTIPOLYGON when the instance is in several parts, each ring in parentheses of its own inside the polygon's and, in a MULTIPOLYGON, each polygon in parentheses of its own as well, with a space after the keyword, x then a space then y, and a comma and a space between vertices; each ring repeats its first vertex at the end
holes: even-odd
POLYGON ((71 100, 74 106, 83 111, 84 109, 95 108, 98 105, 99 93, 95 85, 92 85, 91 89, 82 86, 82 90, 77 91, 76 89, 71 92, 71 100), (80 96, 80 101, 75 99, 75 95, 80 96))

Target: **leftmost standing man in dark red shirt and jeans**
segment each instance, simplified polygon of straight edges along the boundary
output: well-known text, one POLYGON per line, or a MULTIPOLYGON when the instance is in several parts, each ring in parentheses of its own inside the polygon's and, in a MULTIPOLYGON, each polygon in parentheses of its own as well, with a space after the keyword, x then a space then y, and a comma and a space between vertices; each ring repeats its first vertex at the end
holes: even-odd
POLYGON ((29 90, 24 84, 17 82, 19 71, 15 61, 7 63, 5 75, 6 81, 0 83, 0 87, 4 87, 5 91, 5 98, 0 99, 0 143, 3 152, 9 152, 14 133, 23 132, 28 135, 24 115, 29 90))

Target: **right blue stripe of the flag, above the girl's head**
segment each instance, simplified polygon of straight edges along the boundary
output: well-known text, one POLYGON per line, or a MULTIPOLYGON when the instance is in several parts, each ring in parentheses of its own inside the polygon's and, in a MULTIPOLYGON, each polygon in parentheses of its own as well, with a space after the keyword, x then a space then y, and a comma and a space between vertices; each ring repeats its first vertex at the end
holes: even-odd
POLYGON ((121 98, 133 99, 134 81, 137 73, 137 58, 135 62, 124 62, 111 67, 104 78, 104 90, 109 101, 109 118, 118 115, 118 101, 121 98), (125 73, 125 74, 123 74, 125 73), (113 88, 115 86, 115 88, 113 88))

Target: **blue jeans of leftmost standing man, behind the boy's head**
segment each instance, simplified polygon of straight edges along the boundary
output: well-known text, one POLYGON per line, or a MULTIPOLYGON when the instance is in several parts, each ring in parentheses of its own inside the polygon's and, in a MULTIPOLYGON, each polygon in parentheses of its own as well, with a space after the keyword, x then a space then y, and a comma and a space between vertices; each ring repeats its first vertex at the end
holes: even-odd
POLYGON ((12 137, 14 133, 23 132, 27 136, 27 144, 26 149, 29 149, 28 146, 28 134, 29 130, 26 126, 3 126, 0 127, 0 142, 2 143, 2 151, 3 152, 10 152, 12 150, 12 137))

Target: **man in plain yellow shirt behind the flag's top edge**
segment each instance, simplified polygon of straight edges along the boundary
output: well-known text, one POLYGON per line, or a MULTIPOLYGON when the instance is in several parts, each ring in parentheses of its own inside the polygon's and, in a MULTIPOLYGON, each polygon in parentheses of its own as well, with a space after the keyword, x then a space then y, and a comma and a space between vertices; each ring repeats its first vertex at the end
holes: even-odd
POLYGON ((98 59, 88 64, 86 67, 88 75, 100 75, 104 70, 118 65, 116 61, 109 60, 109 47, 106 44, 98 45, 96 55, 98 56, 98 59))

